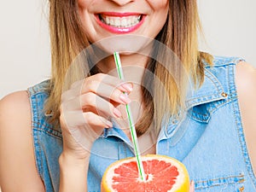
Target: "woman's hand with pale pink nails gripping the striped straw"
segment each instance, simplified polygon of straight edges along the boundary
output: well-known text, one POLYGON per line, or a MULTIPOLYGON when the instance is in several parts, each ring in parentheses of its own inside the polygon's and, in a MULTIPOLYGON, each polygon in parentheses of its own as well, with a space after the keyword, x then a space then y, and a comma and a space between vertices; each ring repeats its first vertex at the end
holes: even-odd
POLYGON ((108 74, 98 73, 75 82, 62 94, 61 131, 63 153, 83 159, 104 128, 112 127, 109 118, 119 118, 116 108, 127 104, 132 85, 108 74))

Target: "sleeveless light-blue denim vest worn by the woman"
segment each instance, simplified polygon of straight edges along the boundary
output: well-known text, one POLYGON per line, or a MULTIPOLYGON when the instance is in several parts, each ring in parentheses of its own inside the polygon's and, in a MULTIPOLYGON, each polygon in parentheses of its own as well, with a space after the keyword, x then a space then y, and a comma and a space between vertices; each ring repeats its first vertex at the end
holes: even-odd
MULTIPOLYGON (((157 138, 156 153, 183 162, 195 181, 195 192, 256 191, 237 102, 235 75, 240 58, 214 57, 205 66, 200 89, 186 100, 187 115, 171 119, 157 138)), ((32 107, 32 137, 38 174, 47 192, 58 191, 62 151, 61 130, 48 123, 44 102, 49 81, 28 89, 32 107)), ((134 156, 130 140, 118 127, 106 129, 93 145, 88 191, 101 191, 102 174, 115 160, 134 156)))

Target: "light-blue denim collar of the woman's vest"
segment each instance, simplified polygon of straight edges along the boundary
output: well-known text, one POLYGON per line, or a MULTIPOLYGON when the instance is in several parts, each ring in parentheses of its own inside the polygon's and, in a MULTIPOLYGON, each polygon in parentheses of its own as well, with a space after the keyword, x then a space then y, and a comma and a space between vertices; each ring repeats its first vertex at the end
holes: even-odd
MULTIPOLYGON (((223 85, 218 81, 218 79, 207 69, 205 68, 205 79, 203 84, 199 89, 189 91, 188 96, 185 101, 185 111, 189 111, 190 108, 193 108, 197 105, 201 105, 207 102, 214 102, 218 100, 223 100, 227 97, 227 94, 224 91, 223 85)), ((159 134, 158 141, 166 138, 172 138, 173 144, 177 143, 180 137, 182 137, 183 129, 177 129, 180 123, 184 119, 169 119, 169 123, 166 128, 161 129, 159 134), (175 137, 174 137, 175 136, 175 137)), ((102 137, 118 137, 127 143, 131 148, 132 144, 129 138, 125 135, 125 133, 119 129, 119 125, 113 120, 113 128, 105 129, 102 137)))

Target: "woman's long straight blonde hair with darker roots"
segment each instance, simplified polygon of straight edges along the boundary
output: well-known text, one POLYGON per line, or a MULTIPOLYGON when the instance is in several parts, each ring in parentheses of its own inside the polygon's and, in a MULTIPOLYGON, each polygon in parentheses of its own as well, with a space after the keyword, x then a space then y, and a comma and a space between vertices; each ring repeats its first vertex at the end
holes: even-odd
MULTIPOLYGON (((60 116, 61 92, 68 68, 79 53, 89 46, 87 38, 79 19, 77 1, 49 1, 49 29, 51 39, 52 78, 50 79, 49 99, 45 110, 52 111, 51 121, 58 122, 60 116)), ((183 63, 176 67, 179 79, 185 75, 183 71, 192 77, 195 85, 200 85, 204 79, 203 60, 211 63, 212 56, 202 53, 198 48, 198 32, 201 31, 200 19, 197 12, 196 0, 170 0, 169 13, 165 25, 155 38, 177 55, 183 63)), ((163 53, 162 53, 163 54, 163 53)), ((159 54, 158 56, 162 56, 159 54)), ((174 61, 179 63, 178 61, 174 61)), ((172 65, 172 66, 173 66, 172 65)), ((152 88, 154 95, 146 88, 143 90, 144 112, 137 122, 137 134, 142 135, 148 130, 154 119, 154 129, 160 131, 161 123, 172 115, 176 115, 183 108, 184 95, 187 87, 185 81, 177 83, 166 67, 151 59, 148 62, 148 70, 154 73, 165 91, 158 91, 158 83, 152 88), (166 93, 166 94, 165 94, 166 93)), ((174 68, 171 68, 174 69, 174 68)), ((86 74, 86 73, 84 73, 86 74)), ((87 72, 90 74, 90 72, 87 72)), ((70 74, 74 81, 78 74, 70 74)), ((144 75, 147 84, 147 75, 144 75)), ((72 83, 72 82, 71 82, 72 83)))

